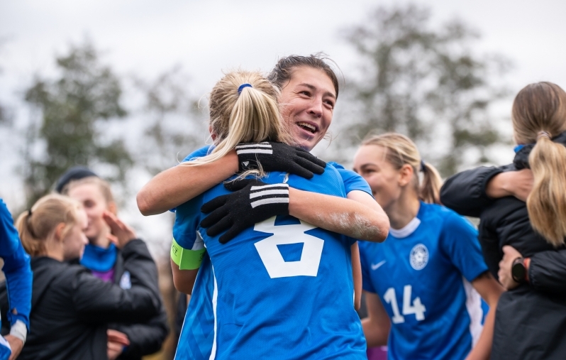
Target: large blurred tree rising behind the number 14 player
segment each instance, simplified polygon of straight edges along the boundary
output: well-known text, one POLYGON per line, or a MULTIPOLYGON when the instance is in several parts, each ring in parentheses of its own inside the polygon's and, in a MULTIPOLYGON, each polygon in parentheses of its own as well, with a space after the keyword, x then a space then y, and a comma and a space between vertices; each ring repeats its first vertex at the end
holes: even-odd
POLYGON ((508 95, 499 82, 510 63, 501 55, 476 55, 479 35, 462 21, 432 28, 430 19, 416 5, 379 7, 348 29, 360 76, 348 80, 345 145, 371 132, 404 133, 448 175, 468 150, 475 150, 475 163, 483 162, 501 142, 494 126, 501 119, 490 106, 508 95))

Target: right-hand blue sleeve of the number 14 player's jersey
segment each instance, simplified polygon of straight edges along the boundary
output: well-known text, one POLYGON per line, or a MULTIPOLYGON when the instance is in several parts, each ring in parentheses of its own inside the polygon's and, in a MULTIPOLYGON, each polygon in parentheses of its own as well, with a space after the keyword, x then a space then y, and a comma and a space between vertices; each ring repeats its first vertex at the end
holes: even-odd
POLYGON ((470 283, 487 271, 482 248, 477 239, 477 230, 465 218, 448 210, 440 247, 450 258, 462 276, 470 283))

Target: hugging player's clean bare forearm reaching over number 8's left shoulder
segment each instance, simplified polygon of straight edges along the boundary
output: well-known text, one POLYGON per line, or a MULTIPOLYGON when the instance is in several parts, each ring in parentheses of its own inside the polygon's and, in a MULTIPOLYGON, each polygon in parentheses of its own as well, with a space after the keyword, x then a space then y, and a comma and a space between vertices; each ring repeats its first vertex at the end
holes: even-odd
POLYGON ((161 214, 209 190, 238 172, 238 156, 199 166, 177 165, 155 175, 138 192, 138 208, 145 216, 161 214))

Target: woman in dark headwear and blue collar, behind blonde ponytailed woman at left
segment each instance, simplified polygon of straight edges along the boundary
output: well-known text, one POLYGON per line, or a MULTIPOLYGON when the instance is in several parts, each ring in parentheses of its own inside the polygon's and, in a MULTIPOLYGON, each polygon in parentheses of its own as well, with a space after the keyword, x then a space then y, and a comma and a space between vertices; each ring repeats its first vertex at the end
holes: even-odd
MULTIPOLYGON (((91 273, 101 280, 115 283, 123 289, 131 288, 132 274, 124 268, 122 251, 111 241, 113 235, 109 225, 104 219, 105 212, 116 215, 116 202, 108 182, 99 178, 88 168, 75 167, 67 171, 56 186, 57 192, 69 195, 82 203, 87 213, 88 225, 84 234, 89 239, 89 244, 84 248, 84 254, 80 260, 82 266, 88 268, 91 273)), ((137 236, 131 231, 132 239, 137 236)), ((115 240, 115 239, 114 239, 115 240)), ((134 248, 138 249, 138 248, 134 248)), ((148 249, 144 246, 140 256, 146 256, 148 249)), ((152 283, 155 290, 159 289, 155 273, 155 262, 150 257, 145 262, 148 268, 140 268, 136 277, 144 276, 145 281, 152 283)), ((110 359, 141 359, 142 356, 153 354, 162 347, 169 332, 167 326, 167 313, 165 307, 161 307, 159 315, 152 317, 149 321, 138 324, 109 324, 109 357, 110 359), (128 345, 120 341, 127 339, 128 345)))

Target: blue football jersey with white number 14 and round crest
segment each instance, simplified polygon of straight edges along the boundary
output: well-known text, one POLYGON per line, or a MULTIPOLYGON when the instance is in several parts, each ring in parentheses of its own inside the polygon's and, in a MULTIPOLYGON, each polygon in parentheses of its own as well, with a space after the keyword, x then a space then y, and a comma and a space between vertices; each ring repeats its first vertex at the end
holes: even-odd
POLYGON ((466 219, 421 202, 382 244, 360 242, 363 288, 389 315, 390 360, 464 359, 482 332, 482 300, 470 282, 487 271, 466 219))

